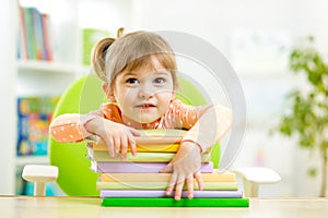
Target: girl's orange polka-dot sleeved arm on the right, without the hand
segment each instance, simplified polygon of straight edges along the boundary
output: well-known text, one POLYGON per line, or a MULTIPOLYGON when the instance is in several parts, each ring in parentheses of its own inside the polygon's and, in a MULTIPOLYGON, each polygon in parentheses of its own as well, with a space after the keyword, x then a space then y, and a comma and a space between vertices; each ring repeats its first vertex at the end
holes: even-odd
POLYGON ((221 105, 192 107, 174 100, 164 116, 164 126, 189 130, 184 141, 198 144, 206 152, 231 129, 231 109, 221 105))

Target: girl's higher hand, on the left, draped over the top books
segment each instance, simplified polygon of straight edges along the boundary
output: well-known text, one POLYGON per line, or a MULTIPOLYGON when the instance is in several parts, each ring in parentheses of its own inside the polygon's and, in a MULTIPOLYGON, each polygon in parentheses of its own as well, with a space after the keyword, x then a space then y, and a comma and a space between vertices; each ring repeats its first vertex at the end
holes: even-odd
POLYGON ((137 130, 101 117, 90 120, 84 128, 106 143, 110 157, 116 157, 120 153, 121 159, 126 160, 128 146, 131 148, 131 154, 137 155, 134 136, 140 135, 137 130))

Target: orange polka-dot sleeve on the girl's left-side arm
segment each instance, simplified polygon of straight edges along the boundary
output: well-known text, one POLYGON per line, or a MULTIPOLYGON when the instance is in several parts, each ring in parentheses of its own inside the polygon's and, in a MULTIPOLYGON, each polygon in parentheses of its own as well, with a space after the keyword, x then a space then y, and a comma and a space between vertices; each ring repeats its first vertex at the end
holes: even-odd
POLYGON ((49 134, 57 142, 81 142, 92 135, 84 129, 84 124, 96 116, 103 117, 102 111, 87 114, 66 113, 58 116, 49 125, 49 134))

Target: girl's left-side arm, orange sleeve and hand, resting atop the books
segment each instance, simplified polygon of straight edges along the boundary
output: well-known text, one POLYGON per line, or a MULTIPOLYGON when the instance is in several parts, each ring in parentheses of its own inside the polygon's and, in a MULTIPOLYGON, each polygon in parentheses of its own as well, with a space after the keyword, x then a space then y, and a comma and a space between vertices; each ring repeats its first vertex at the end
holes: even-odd
POLYGON ((140 133, 121 123, 110 121, 102 111, 89 114, 67 113, 57 117, 50 124, 49 133, 58 142, 81 142, 90 135, 99 136, 108 147, 110 157, 120 154, 125 159, 128 147, 137 155, 134 136, 140 133))

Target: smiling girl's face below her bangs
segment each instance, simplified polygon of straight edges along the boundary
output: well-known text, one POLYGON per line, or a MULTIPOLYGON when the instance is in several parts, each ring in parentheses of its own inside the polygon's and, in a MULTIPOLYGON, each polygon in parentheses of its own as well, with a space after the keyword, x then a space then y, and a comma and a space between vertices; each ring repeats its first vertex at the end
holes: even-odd
POLYGON ((133 71, 122 71, 115 80, 112 95, 125 123, 151 123, 161 118, 174 98, 174 82, 155 56, 133 71))

